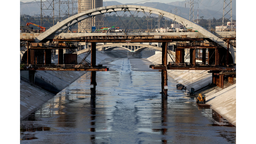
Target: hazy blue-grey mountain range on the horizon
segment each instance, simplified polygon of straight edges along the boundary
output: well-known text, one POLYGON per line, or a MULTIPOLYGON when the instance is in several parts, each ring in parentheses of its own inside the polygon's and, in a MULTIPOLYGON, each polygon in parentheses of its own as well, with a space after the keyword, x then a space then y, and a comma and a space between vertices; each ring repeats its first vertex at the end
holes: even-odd
MULTIPOLYGON (((160 2, 145 2, 142 4, 133 4, 133 5, 141 5, 146 7, 153 7, 156 9, 161 9, 167 12, 175 13, 175 9, 177 9, 177 15, 189 19, 189 11, 190 11, 190 0, 186 1, 176 1, 176 2, 170 2, 170 3, 160 3, 160 2)), ((198 0, 195 1, 194 4, 194 19, 197 17, 203 17, 204 19, 212 19, 213 17, 216 19, 222 18, 223 16, 223 3, 224 1, 220 0, 198 0)), ((40 14, 40 4, 38 3, 32 3, 32 2, 26 2, 27 4, 24 4, 20 2, 20 14, 28 14, 28 15, 35 15, 40 14)), ((128 3, 126 3, 128 4, 128 3)), ((111 6, 111 5, 125 5, 122 3, 119 3, 117 1, 105 1, 103 2, 103 6, 111 6)), ((58 3, 57 3, 58 6, 58 3)), ((45 4, 45 7, 47 5, 45 4)), ((56 6, 55 6, 56 7, 56 6)), ((63 7, 62 9, 65 9, 63 7)), ((55 10, 55 14, 58 15, 59 8, 55 10)), ((45 10, 46 11, 46 10, 45 10)), ((140 16, 140 15, 139 15, 140 16)), ((143 16, 143 15, 141 15, 143 16)), ((235 20, 236 19, 236 2, 233 1, 232 3, 232 17, 235 20)))

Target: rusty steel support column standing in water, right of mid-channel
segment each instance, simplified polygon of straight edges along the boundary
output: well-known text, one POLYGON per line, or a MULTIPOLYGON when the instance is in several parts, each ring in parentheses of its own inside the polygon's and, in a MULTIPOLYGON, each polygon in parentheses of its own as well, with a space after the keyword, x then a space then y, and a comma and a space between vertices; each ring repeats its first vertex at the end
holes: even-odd
MULTIPOLYGON (((167 68, 167 47, 168 47, 168 42, 163 42, 162 43, 162 65, 166 66, 167 68)), ((167 86, 167 69, 161 70, 161 78, 162 78, 162 98, 167 99, 167 90, 165 89, 165 86, 167 86)))

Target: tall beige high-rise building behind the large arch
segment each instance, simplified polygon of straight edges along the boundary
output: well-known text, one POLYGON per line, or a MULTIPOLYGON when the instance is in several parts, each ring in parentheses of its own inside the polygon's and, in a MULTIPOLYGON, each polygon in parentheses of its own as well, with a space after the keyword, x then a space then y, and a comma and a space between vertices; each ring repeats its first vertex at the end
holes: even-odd
MULTIPOLYGON (((78 0, 78 13, 102 7, 103 0, 78 0)), ((103 27, 102 15, 96 15, 91 18, 87 18, 78 23, 78 30, 85 31, 91 30, 92 26, 96 26, 97 29, 103 27)))

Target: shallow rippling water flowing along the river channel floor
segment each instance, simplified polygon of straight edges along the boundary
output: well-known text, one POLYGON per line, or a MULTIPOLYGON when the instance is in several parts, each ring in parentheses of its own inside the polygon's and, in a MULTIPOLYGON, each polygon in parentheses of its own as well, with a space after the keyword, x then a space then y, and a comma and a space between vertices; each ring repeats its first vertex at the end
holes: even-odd
POLYGON ((168 77, 161 97, 161 72, 143 59, 114 58, 90 72, 20 121, 20 143, 47 144, 225 144, 236 143, 236 127, 211 108, 201 109, 168 77))

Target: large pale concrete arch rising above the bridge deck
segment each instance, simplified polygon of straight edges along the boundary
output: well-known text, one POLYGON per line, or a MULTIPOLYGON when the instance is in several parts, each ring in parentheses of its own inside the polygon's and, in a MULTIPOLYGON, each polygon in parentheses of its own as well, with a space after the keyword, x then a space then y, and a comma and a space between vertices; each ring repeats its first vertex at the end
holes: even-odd
MULTIPOLYGON (((105 6, 105 7, 100 7, 100 8, 95 8, 95 9, 91 9, 79 14, 76 14, 74 16, 71 16, 61 22, 59 22, 58 24, 54 25, 53 27, 51 27, 50 29, 46 30, 44 33, 42 33, 41 35, 39 35, 36 38, 36 42, 40 42, 42 40, 44 40, 45 38, 53 35, 54 33, 56 33, 57 31, 61 31, 63 29, 67 29, 69 26, 72 26, 74 24, 76 24, 77 22, 84 20, 86 18, 98 15, 98 14, 104 14, 104 13, 109 13, 109 12, 117 12, 117 11, 141 11, 141 12, 149 12, 152 14, 157 14, 157 15, 162 15, 164 17, 170 18, 175 20, 178 23, 183 24, 186 27, 193 27, 195 30, 197 30, 198 32, 200 32, 202 35, 204 35, 205 37, 211 39, 212 41, 218 43, 219 45, 223 46, 224 48, 227 49, 227 44, 225 41, 223 41, 222 39, 220 39, 219 37, 217 37, 216 35, 212 34, 210 31, 206 30, 205 28, 201 27, 200 25, 191 22, 183 17, 180 17, 178 15, 163 11, 163 10, 159 10, 159 9, 155 9, 152 7, 145 7, 145 6, 138 6, 138 5, 114 5, 114 6, 105 6)), ((233 57, 233 62, 236 62, 236 48, 232 47, 230 45, 230 52, 231 55, 233 57)))

